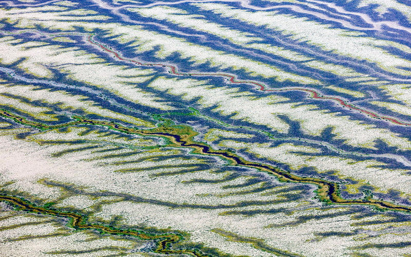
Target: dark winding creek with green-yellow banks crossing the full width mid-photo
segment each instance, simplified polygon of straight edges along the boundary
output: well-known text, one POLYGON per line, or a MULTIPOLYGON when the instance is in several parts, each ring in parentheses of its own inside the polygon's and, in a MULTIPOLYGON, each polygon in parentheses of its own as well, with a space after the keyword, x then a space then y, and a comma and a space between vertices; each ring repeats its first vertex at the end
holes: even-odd
POLYGON ((15 122, 29 125, 32 127, 39 128, 39 130, 52 130, 55 128, 67 127, 72 125, 101 125, 106 126, 111 130, 123 132, 126 134, 137 134, 141 136, 156 136, 164 137, 169 140, 169 146, 183 147, 193 149, 195 154, 205 154, 222 157, 230 161, 231 165, 237 165, 242 167, 255 168, 263 172, 267 172, 274 175, 281 182, 301 182, 301 183, 311 183, 316 185, 318 189, 315 191, 317 197, 327 203, 327 204, 344 204, 344 205, 366 205, 372 206, 377 210, 391 210, 391 211, 401 211, 401 212, 411 212, 411 207, 397 205, 395 203, 390 203, 389 201, 373 199, 367 197, 364 199, 344 199, 340 196, 339 184, 337 182, 327 181, 321 178, 314 177, 301 177, 291 174, 287 171, 270 166, 269 164, 257 163, 245 160, 242 157, 237 156, 235 153, 228 150, 214 150, 206 143, 193 141, 193 137, 198 133, 192 130, 190 126, 185 125, 167 125, 166 122, 163 125, 159 125, 156 128, 149 130, 139 130, 135 127, 126 127, 117 123, 91 120, 80 116, 73 116, 75 121, 71 121, 59 125, 46 125, 39 122, 29 121, 23 117, 12 114, 5 109, 0 109, 0 116, 13 119, 15 122))

